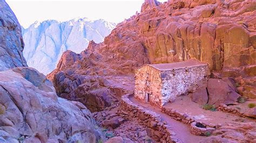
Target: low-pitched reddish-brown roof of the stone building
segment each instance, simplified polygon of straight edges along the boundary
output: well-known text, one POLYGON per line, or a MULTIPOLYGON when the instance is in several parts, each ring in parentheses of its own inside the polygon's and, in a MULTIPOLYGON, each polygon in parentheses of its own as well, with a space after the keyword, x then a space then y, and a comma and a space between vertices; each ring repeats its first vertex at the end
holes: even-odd
POLYGON ((179 68, 186 68, 186 67, 197 67, 197 66, 204 66, 207 65, 206 62, 201 62, 198 60, 187 60, 182 62, 173 62, 173 63, 159 63, 154 65, 148 65, 158 70, 172 70, 172 69, 179 69, 179 68))

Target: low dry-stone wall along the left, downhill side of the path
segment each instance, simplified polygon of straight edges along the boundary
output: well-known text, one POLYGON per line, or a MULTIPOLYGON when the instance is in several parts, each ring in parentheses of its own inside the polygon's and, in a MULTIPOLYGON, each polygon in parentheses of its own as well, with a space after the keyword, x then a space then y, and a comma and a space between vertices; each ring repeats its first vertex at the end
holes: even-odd
POLYGON ((157 113, 146 110, 141 106, 132 103, 129 94, 122 97, 118 114, 127 120, 137 120, 140 124, 147 127, 147 134, 161 142, 181 142, 175 137, 175 134, 169 125, 161 121, 157 113))

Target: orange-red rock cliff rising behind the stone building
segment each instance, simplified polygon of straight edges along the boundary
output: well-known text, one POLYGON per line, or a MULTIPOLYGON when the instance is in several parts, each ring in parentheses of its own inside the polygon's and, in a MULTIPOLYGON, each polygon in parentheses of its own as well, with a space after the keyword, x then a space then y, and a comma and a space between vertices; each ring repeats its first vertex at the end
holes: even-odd
MULTIPOLYGON (((111 89, 98 84, 98 77, 125 75, 131 77, 126 83, 133 84, 133 69, 145 63, 198 59, 209 63, 212 77, 233 77, 240 94, 255 98, 255 8, 256 2, 251 0, 177 0, 163 4, 146 0, 142 11, 118 24, 104 42, 92 41, 79 55, 81 60, 61 68, 69 57, 64 54, 48 78, 60 96, 83 102, 95 83, 97 88, 111 89)), ((118 89, 128 92, 123 84, 118 89)))

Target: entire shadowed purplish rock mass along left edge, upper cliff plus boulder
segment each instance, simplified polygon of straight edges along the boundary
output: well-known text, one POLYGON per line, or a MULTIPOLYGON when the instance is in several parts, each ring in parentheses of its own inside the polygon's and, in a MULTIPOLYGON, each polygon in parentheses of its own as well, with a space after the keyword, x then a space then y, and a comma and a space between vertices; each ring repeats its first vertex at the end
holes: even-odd
POLYGON ((56 95, 52 83, 23 58, 21 26, 0 0, 0 142, 104 141, 91 112, 56 95))

